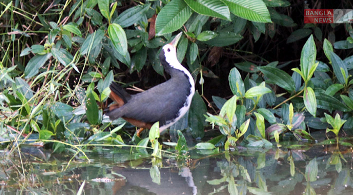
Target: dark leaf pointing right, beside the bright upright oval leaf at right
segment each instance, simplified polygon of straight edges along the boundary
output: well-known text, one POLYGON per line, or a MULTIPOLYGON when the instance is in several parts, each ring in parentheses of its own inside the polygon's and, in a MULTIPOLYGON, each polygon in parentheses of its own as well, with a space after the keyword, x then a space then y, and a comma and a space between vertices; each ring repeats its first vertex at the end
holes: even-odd
POLYGON ((343 112, 348 112, 349 109, 346 105, 341 103, 338 99, 333 96, 329 96, 324 93, 317 92, 315 93, 317 108, 325 109, 325 110, 340 110, 343 112))

